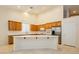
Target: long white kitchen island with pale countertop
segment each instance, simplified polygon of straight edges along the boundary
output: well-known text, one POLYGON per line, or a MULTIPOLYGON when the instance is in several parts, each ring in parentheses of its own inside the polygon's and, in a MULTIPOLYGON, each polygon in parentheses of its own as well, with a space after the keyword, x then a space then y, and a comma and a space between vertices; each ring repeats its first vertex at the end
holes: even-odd
POLYGON ((54 35, 23 35, 14 36, 14 50, 21 49, 57 49, 58 36, 54 35))

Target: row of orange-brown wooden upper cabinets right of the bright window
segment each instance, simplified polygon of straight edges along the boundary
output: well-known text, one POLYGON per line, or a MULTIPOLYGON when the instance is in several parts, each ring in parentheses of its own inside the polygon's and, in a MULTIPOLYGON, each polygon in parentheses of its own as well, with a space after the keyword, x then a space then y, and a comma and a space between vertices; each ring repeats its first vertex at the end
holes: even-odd
POLYGON ((52 27, 61 27, 61 21, 50 22, 41 25, 31 24, 31 31, 39 31, 40 28, 51 29, 52 27))

